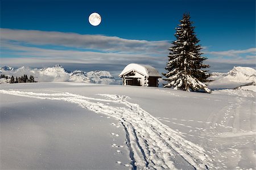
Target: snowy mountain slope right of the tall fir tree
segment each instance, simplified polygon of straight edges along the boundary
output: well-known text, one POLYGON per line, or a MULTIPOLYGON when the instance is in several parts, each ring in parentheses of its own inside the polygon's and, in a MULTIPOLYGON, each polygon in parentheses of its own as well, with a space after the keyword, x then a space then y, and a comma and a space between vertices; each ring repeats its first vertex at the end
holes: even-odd
POLYGON ((256 70, 251 67, 234 67, 229 73, 212 73, 209 88, 236 88, 256 82, 256 70))

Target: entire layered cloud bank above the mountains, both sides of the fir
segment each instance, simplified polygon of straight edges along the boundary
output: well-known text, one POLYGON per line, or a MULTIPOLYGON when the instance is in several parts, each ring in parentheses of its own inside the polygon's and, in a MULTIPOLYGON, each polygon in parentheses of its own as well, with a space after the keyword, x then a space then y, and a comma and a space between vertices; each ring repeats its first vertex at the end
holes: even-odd
MULTIPOLYGON (((52 66, 55 63, 96 66, 116 72, 135 62, 149 64, 160 72, 168 62, 168 41, 129 40, 104 35, 0 28, 1 65, 52 66), (100 67, 101 65, 101 67, 100 67), (113 68, 113 66, 116 66, 113 68), (121 66, 121 67, 120 67, 121 66)), ((205 47, 210 71, 228 71, 233 66, 255 66, 256 48, 210 51, 205 47)))

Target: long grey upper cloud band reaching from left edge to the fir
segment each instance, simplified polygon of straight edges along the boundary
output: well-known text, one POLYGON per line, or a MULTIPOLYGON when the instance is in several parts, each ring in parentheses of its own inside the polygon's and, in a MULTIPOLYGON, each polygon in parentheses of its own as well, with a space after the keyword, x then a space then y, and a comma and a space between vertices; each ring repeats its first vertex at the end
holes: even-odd
POLYGON ((101 52, 159 53, 170 48, 168 41, 129 40, 104 35, 81 35, 51 31, 36 31, 1 28, 3 42, 25 43, 26 45, 57 45, 101 52))

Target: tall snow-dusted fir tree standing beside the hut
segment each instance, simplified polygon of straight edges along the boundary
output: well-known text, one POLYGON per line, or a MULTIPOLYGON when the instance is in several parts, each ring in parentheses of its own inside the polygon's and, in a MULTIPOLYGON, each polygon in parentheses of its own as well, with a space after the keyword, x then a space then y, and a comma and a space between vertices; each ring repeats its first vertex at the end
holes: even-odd
POLYGON ((208 68, 209 65, 203 64, 207 58, 201 56, 202 48, 198 44, 200 40, 196 37, 195 27, 192 26, 189 14, 183 14, 183 19, 178 26, 175 28, 176 40, 172 42, 173 46, 169 49, 169 62, 165 68, 167 73, 163 73, 168 82, 164 87, 185 91, 203 90, 210 93, 204 84, 210 81, 207 80, 208 70, 201 70, 208 68))

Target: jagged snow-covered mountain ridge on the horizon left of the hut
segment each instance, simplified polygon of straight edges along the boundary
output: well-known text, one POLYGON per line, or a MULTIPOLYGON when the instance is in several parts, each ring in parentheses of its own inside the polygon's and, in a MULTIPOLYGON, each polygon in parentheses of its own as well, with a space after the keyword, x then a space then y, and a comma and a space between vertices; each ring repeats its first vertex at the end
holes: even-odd
POLYGON ((108 71, 89 71, 88 73, 75 70, 68 73, 60 65, 47 67, 43 69, 30 69, 22 66, 13 69, 9 66, 0 67, 0 73, 7 76, 22 76, 24 74, 33 75, 38 82, 80 82, 80 83, 97 83, 97 84, 119 84, 117 80, 108 71))

